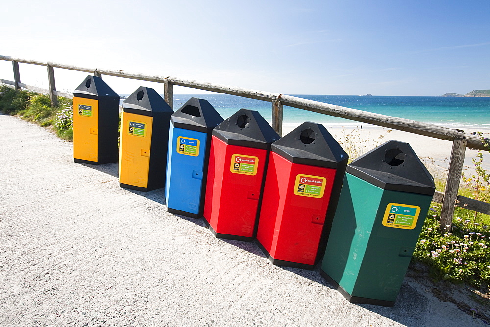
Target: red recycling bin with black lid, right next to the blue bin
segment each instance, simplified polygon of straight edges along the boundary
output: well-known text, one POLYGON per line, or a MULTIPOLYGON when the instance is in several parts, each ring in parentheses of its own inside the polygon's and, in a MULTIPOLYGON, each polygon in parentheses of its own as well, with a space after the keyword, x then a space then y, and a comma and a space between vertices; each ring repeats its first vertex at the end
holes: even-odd
POLYGON ((279 135, 255 110, 240 109, 213 130, 204 221, 220 238, 255 238, 270 144, 279 135))

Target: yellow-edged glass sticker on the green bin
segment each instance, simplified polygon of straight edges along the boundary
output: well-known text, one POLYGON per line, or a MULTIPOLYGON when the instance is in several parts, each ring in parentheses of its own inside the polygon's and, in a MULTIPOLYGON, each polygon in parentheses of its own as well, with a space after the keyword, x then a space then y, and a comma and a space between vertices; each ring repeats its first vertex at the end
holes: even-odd
POLYGON ((417 225, 420 207, 389 203, 383 216, 383 226, 412 230, 417 225))

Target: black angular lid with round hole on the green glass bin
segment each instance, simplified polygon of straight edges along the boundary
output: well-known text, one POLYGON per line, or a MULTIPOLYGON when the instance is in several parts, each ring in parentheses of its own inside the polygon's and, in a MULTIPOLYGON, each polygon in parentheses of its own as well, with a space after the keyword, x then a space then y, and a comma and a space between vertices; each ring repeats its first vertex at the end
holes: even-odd
POLYGON ((434 195, 434 178, 410 144, 381 144, 347 166, 347 172, 385 190, 434 195))

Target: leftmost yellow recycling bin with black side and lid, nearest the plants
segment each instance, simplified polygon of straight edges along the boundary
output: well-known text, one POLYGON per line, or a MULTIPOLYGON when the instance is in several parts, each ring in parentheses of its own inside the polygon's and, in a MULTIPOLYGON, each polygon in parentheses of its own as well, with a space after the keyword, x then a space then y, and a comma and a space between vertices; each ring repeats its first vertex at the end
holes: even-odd
POLYGON ((118 161, 119 95, 100 77, 87 76, 73 92, 73 161, 118 161))

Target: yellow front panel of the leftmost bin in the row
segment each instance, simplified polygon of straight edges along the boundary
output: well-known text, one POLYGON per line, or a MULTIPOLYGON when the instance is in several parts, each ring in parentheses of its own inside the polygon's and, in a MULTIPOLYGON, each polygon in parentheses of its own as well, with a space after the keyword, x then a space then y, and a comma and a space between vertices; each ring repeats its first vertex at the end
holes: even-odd
POLYGON ((73 158, 98 161, 98 100, 73 96, 73 158))

